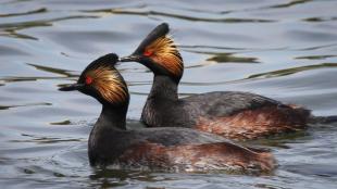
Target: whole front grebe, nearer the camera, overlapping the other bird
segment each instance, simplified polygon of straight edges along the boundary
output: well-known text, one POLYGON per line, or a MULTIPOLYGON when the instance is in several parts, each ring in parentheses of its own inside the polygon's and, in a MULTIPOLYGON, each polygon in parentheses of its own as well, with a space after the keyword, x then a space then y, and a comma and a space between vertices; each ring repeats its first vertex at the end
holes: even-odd
POLYGON ((129 93, 114 67, 117 59, 113 53, 97 59, 76 84, 60 88, 78 90, 102 104, 88 141, 91 165, 170 172, 261 173, 274 168, 271 153, 239 147, 212 134, 179 127, 127 130, 129 93))

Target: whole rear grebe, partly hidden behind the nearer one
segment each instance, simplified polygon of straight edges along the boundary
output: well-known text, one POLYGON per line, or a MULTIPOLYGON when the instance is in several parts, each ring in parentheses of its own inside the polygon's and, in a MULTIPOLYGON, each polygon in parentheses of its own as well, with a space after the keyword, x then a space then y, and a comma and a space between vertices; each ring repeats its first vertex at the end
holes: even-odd
MULTIPOLYGON (((215 91, 179 99, 184 64, 168 30, 167 24, 159 25, 132 55, 121 59, 138 62, 154 74, 141 114, 149 127, 188 127, 247 140, 302 129, 320 119, 301 106, 249 92, 215 91)), ((332 118, 336 121, 336 116, 332 118)))

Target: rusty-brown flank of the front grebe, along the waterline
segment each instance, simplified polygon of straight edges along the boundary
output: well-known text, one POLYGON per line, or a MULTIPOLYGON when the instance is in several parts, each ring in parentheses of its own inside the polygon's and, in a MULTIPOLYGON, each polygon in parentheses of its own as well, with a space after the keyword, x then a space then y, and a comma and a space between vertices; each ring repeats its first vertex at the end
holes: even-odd
POLYGON ((249 173, 270 172, 275 167, 271 153, 253 152, 228 142, 172 147, 145 142, 128 149, 118 162, 136 167, 147 165, 151 169, 168 167, 174 172, 249 173))

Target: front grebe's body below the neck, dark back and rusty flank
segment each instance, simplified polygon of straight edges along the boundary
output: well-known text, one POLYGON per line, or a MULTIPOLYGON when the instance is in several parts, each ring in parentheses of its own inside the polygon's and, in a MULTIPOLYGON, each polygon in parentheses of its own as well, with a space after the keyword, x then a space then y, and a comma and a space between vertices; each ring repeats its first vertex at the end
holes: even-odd
POLYGON ((252 151, 187 128, 120 130, 96 125, 89 139, 91 165, 165 172, 261 173, 275 167, 269 152, 252 151))

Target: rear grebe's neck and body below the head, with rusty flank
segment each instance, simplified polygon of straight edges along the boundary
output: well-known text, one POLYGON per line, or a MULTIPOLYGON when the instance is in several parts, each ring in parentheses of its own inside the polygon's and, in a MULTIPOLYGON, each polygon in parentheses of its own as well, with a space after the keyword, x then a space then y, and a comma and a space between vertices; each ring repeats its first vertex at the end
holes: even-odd
POLYGON ((176 88, 168 77, 154 76, 141 121, 149 127, 175 125, 245 140, 304 128, 310 117, 305 109, 254 93, 216 91, 178 99, 176 88))

